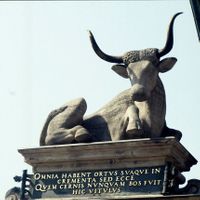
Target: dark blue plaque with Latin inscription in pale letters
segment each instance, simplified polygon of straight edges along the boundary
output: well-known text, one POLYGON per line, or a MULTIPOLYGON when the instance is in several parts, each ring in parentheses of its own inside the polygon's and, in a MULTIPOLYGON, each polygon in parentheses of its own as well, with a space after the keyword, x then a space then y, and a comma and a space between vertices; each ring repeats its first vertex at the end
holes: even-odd
POLYGON ((161 193, 165 166, 78 172, 36 172, 34 198, 55 195, 95 195, 112 193, 161 193), (48 195, 49 194, 49 195, 48 195))

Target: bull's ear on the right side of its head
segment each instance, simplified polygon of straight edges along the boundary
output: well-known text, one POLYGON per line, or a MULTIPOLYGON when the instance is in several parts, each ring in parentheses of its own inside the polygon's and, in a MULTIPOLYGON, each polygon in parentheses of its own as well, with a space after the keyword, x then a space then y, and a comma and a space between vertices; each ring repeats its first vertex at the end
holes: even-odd
POLYGON ((177 59, 174 57, 165 58, 158 64, 158 71, 161 73, 167 72, 175 65, 177 59))

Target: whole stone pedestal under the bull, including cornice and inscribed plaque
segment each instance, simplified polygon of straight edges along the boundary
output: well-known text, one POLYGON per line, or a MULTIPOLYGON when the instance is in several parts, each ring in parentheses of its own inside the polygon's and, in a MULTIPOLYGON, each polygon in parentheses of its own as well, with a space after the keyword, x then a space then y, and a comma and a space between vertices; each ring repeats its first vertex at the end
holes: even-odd
POLYGON ((19 152, 33 167, 34 199, 200 199, 183 196, 184 191, 178 189, 184 182, 181 172, 197 161, 173 137, 19 152))

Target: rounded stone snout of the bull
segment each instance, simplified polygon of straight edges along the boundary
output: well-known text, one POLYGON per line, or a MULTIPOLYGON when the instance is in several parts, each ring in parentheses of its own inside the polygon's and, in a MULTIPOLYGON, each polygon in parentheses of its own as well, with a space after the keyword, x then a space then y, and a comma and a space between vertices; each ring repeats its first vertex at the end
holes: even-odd
POLYGON ((145 87, 139 84, 135 84, 132 86, 131 96, 133 101, 146 101, 149 97, 148 92, 145 90, 145 87))

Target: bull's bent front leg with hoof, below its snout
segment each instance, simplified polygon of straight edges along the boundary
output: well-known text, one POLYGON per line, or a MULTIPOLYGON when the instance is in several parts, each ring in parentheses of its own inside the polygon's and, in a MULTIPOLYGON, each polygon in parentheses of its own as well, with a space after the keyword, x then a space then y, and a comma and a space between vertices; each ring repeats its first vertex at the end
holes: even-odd
POLYGON ((142 138, 144 135, 142 124, 139 119, 139 110, 132 104, 128 107, 124 123, 126 125, 125 137, 128 139, 142 138))

